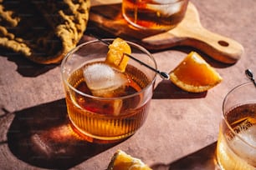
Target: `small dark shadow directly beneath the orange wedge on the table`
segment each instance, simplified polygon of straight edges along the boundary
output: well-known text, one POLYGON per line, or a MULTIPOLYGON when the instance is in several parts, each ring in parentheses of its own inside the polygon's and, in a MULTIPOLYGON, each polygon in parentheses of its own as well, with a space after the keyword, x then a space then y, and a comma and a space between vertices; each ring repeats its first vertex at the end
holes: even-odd
POLYGON ((162 80, 157 84, 153 93, 153 99, 171 98, 201 98, 206 97, 207 92, 185 92, 175 86, 170 80, 162 80))

